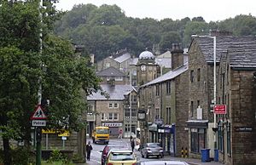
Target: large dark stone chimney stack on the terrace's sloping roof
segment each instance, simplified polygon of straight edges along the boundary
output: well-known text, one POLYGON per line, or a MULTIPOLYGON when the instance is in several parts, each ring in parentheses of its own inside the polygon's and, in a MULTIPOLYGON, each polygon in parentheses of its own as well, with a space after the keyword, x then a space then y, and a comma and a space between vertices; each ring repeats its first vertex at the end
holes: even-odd
POLYGON ((172 70, 183 65, 183 48, 181 43, 172 43, 172 70))

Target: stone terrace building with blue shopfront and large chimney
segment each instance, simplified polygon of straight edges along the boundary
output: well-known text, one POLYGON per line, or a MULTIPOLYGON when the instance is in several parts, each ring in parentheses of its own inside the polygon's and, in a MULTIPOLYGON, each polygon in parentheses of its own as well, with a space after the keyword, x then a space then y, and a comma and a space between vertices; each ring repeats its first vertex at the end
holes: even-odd
MULTIPOLYGON (((149 60, 153 59, 151 56, 152 54, 148 54, 149 60)), ((188 98, 185 93, 185 89, 188 89, 188 63, 186 60, 183 49, 180 45, 174 44, 172 71, 149 80, 137 77, 138 80, 148 82, 139 87, 139 109, 147 111, 146 122, 148 123, 140 124, 144 135, 141 138, 146 142, 160 140, 166 154, 175 156, 180 155, 182 147, 188 146, 188 132, 185 130, 185 122, 188 117, 188 98), (181 93, 182 89, 184 93, 181 93)), ((139 67, 142 65, 139 64, 139 67)), ((138 73, 137 75, 142 74, 138 73)))

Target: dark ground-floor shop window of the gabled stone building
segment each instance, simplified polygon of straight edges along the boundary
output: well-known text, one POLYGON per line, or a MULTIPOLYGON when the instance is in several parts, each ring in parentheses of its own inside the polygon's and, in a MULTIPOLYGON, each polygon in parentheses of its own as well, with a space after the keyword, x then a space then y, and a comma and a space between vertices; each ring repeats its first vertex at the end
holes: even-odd
POLYGON ((206 146, 206 131, 204 128, 191 128, 191 152, 200 153, 206 146))

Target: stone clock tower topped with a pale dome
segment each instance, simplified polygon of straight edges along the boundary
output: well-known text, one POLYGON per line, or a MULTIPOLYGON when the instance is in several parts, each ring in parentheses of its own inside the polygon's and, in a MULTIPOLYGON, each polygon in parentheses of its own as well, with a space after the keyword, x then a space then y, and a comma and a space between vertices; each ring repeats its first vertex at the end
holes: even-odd
POLYGON ((157 77, 157 64, 154 54, 148 50, 139 55, 137 61, 137 85, 141 86, 157 77))

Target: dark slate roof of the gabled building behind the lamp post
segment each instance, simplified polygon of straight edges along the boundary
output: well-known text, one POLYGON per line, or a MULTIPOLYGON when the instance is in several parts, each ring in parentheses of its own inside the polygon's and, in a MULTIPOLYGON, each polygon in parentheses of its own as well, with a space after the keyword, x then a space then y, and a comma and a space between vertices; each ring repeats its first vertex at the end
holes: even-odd
MULTIPOLYGON (((213 38, 195 37, 193 42, 198 42, 207 63, 213 63, 213 38)), ((256 46, 256 37, 235 37, 217 36, 216 37, 216 62, 219 62, 221 54, 226 54, 231 46, 256 46)))

